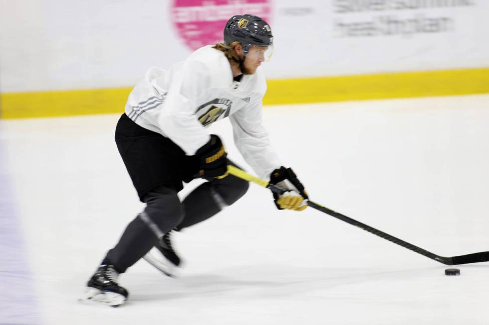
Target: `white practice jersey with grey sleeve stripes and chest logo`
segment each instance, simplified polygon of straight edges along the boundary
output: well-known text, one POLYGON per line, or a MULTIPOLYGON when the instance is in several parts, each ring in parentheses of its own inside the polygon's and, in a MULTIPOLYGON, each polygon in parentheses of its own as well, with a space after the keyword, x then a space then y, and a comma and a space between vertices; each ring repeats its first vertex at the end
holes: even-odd
POLYGON ((261 125, 265 91, 259 68, 234 81, 226 56, 208 45, 168 70, 149 69, 129 95, 125 111, 138 125, 170 138, 187 155, 210 140, 206 126, 229 117, 246 162, 268 179, 281 163, 261 125))

